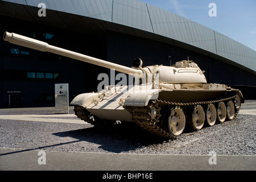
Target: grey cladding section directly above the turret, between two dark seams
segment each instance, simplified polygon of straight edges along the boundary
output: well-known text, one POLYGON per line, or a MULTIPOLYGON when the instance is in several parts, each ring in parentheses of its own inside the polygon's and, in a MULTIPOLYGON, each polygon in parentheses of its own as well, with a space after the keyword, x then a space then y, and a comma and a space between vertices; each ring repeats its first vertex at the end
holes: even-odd
POLYGON ((158 7, 147 6, 155 34, 216 53, 213 30, 158 7))

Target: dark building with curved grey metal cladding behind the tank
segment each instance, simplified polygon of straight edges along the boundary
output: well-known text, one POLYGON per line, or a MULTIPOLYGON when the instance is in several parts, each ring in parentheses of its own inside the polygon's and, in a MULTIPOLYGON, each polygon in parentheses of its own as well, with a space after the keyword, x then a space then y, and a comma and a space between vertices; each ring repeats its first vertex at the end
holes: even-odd
MULTIPOLYGON (((5 31, 16 32, 129 67, 134 57, 141 57, 144 65, 168 65, 168 55, 174 57, 174 62, 189 56, 205 69, 208 82, 237 87, 247 99, 256 99, 253 49, 141 1, 5 0, 0 2, 0 18, 2 35, 5 31), (46 17, 39 17, 39 3, 46 5, 46 17)), ((14 47, 2 40, 0 46, 0 107, 52 106, 51 85, 59 82, 70 83, 72 100, 76 94, 96 91, 98 73, 109 72, 65 57, 14 47), (93 77, 89 74, 92 70, 93 77), (41 89, 32 89, 40 85, 41 89), (13 99, 20 103, 11 105, 13 99)))

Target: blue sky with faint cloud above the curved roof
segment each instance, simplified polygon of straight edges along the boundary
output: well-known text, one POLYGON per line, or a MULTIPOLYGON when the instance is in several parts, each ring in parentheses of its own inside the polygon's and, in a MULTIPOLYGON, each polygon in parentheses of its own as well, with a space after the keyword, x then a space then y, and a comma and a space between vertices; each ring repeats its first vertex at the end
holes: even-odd
POLYGON ((255 0, 140 0, 203 24, 256 51, 255 0), (217 16, 210 17, 210 3, 217 16))

